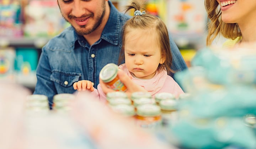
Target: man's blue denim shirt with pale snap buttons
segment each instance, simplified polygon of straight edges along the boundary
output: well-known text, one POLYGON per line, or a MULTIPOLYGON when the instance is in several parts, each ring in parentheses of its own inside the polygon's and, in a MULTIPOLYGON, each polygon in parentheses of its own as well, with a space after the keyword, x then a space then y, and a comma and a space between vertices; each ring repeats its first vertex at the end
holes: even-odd
MULTIPOLYGON (((102 67, 118 63, 122 27, 130 16, 119 12, 110 1, 108 3, 110 16, 97 42, 90 46, 73 27, 68 27, 42 48, 33 94, 48 96, 50 107, 55 94, 74 93, 73 84, 79 80, 89 80, 97 88, 102 67)), ((177 71, 186 69, 180 51, 171 38, 170 44, 173 56, 171 68, 177 71)))

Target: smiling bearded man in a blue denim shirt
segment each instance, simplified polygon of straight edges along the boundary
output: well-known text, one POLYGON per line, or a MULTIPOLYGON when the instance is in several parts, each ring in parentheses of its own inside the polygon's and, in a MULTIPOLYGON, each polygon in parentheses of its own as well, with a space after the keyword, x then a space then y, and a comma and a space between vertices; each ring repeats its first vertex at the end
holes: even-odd
MULTIPOLYGON (((97 87, 101 68, 118 62, 122 26, 130 18, 108 0, 58 0, 58 5, 71 27, 42 48, 34 91, 34 94, 47 95, 50 107, 55 94, 75 92, 74 82, 89 80, 97 87)), ((171 68, 186 69, 172 39, 170 44, 171 68)))

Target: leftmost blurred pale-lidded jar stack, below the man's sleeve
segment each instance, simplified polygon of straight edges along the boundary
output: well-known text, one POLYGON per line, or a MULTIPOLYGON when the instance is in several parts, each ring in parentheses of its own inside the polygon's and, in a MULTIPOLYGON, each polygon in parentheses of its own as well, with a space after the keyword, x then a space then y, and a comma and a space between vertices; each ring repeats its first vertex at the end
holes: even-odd
POLYGON ((46 95, 28 95, 26 99, 26 110, 34 112, 49 111, 48 97, 46 95))

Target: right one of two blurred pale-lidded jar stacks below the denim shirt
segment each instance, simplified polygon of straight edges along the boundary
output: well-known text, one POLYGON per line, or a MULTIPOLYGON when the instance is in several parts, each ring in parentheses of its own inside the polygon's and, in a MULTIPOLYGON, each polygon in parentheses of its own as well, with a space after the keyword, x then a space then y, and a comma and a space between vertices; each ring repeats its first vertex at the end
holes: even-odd
POLYGON ((74 94, 62 93, 53 96, 53 110, 55 111, 68 111, 70 110, 69 102, 74 100, 74 94))

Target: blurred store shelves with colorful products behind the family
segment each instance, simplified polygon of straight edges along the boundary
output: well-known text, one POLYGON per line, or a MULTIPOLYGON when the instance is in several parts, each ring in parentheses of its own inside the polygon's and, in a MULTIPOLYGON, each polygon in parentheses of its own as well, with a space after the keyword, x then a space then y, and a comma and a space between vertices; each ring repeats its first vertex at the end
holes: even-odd
MULTIPOLYGON (((131 0, 112 0, 124 12, 131 0)), ((160 17, 171 32, 181 54, 190 60, 205 45, 204 0, 147 0, 149 13, 160 17)), ((127 12, 127 15, 133 15, 127 12)), ((0 80, 13 78, 30 88, 36 84, 36 66, 41 48, 66 27, 56 0, 0 1, 0 80), (14 76, 14 77, 10 77, 14 76)))

